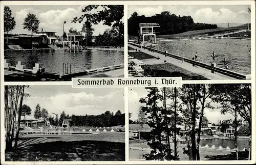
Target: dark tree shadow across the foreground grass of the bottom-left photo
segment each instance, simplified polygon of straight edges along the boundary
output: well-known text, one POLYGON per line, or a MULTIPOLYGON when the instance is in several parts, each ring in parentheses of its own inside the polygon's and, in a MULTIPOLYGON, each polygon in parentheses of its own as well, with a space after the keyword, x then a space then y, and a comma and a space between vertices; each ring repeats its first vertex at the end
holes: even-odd
MULTIPOLYGON (((36 139, 32 139, 28 141, 35 140, 36 139)), ((16 150, 6 152, 6 161, 125 160, 124 143, 105 141, 55 141, 47 143, 37 142, 36 144, 27 144, 23 146, 24 147, 18 147, 16 150)))

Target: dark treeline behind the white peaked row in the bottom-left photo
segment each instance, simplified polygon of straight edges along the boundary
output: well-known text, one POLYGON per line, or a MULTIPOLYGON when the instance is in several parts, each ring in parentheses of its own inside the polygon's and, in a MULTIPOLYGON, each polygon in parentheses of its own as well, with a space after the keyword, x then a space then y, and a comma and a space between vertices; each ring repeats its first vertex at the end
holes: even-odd
POLYGON ((76 116, 76 115, 66 115, 63 111, 60 114, 59 125, 62 125, 63 119, 71 119, 71 126, 92 126, 92 127, 111 127, 117 125, 124 125, 125 115, 121 111, 117 111, 115 114, 110 111, 106 111, 101 115, 85 115, 85 116, 76 116))

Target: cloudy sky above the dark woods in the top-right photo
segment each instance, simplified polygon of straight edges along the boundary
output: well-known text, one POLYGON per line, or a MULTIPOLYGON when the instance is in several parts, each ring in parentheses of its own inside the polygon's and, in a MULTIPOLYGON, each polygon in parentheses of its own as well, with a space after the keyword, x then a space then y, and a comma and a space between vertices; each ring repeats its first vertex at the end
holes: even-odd
POLYGON ((163 11, 171 14, 190 15, 195 23, 248 23, 249 5, 161 5, 129 6, 128 17, 134 12, 152 16, 163 11))

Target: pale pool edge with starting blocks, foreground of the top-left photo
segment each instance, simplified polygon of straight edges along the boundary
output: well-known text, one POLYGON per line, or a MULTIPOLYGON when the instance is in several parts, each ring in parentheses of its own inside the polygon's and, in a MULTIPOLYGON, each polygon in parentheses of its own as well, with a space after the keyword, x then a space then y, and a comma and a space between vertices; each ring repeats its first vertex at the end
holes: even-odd
POLYGON ((77 72, 77 73, 57 74, 57 73, 45 72, 45 68, 43 68, 42 65, 38 63, 35 63, 35 66, 33 67, 33 69, 25 69, 25 65, 21 61, 18 61, 18 64, 15 67, 10 66, 10 59, 5 59, 5 69, 8 69, 10 71, 23 72, 24 74, 39 75, 41 77, 55 78, 55 79, 70 79, 74 76, 95 74, 95 73, 106 72, 106 71, 122 69, 122 68, 124 68, 124 64, 112 65, 112 66, 96 68, 96 69, 89 69, 89 70, 77 72))

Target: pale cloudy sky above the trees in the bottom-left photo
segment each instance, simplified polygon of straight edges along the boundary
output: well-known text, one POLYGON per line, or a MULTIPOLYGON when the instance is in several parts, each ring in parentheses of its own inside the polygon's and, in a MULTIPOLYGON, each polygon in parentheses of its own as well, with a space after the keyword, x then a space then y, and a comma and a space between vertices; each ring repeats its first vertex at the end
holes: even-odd
MULTIPOLYGON (((74 115, 100 115, 105 111, 114 114, 120 110, 124 113, 123 88, 71 88, 71 86, 30 86, 25 89, 30 94, 24 104, 32 109, 32 115, 26 119, 34 119, 33 114, 37 103, 46 108, 48 113, 58 114, 65 111, 74 115)), ((24 119, 24 117, 22 117, 24 119)))

